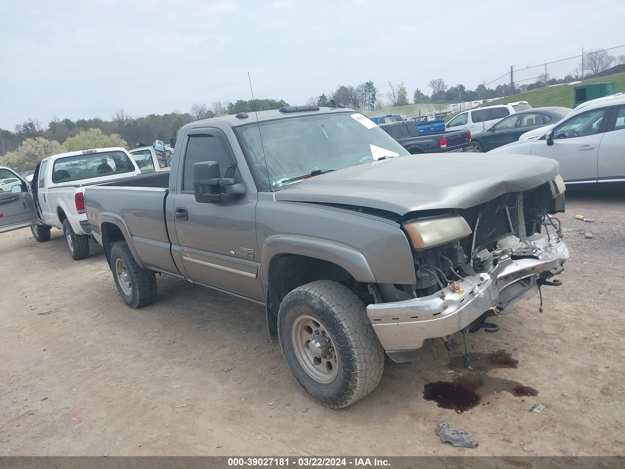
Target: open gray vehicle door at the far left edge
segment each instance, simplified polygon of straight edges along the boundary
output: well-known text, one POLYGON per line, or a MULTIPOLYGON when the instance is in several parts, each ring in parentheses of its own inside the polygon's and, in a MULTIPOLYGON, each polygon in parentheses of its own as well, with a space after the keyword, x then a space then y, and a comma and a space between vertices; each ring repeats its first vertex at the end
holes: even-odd
POLYGON ((0 166, 0 181, 14 178, 17 182, 0 193, 0 233, 39 224, 28 183, 12 169, 0 166))

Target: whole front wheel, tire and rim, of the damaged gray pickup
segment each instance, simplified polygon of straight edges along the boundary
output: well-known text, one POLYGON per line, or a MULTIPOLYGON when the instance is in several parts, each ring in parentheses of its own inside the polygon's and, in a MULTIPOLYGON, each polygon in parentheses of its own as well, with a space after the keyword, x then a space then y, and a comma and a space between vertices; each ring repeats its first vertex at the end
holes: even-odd
POLYGON ((384 371, 384 349, 362 301, 345 286, 319 280, 288 293, 277 319, 280 348, 300 386, 331 408, 369 394, 384 371))

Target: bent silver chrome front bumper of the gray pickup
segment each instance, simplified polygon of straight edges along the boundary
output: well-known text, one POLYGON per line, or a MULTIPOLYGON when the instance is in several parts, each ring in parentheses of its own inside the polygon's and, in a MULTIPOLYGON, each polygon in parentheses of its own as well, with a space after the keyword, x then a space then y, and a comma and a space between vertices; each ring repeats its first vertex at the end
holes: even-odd
POLYGON ((486 272, 457 281, 459 291, 447 286, 434 295, 367 306, 367 315, 384 350, 421 348, 424 340, 461 331, 497 305, 505 305, 501 313, 507 314, 516 301, 536 295, 537 275, 569 259, 566 244, 555 236, 534 234, 521 241, 511 238, 500 240, 500 246, 506 241, 509 247, 492 251, 486 272), (515 253, 526 257, 513 260, 515 253))

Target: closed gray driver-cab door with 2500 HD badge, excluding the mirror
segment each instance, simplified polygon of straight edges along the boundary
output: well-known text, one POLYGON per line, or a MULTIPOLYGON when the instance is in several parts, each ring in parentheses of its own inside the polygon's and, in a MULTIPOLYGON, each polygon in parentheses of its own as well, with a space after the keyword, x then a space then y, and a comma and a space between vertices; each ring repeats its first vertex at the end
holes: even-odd
MULTIPOLYGON (((264 300, 256 245, 256 196, 199 203, 193 194, 193 164, 217 161, 222 178, 234 177, 236 159, 216 128, 191 129, 179 143, 178 186, 173 197, 174 225, 187 276, 207 286, 264 300)), ((174 255, 174 258, 177 256, 174 255)))

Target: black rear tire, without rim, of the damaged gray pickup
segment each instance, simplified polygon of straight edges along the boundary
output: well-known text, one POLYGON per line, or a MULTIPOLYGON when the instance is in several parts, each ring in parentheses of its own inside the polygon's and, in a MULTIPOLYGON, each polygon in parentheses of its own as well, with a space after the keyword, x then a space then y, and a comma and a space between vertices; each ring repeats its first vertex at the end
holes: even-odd
POLYGON ((141 308, 149 305, 156 298, 156 273, 151 270, 142 269, 134 260, 128 243, 125 241, 115 243, 111 248, 111 271, 113 279, 117 285, 119 296, 126 301, 131 308, 141 308), (131 283, 130 288, 121 285, 120 275, 118 275, 118 261, 123 263, 128 278, 131 283), (126 290, 126 291, 124 291, 126 290))

